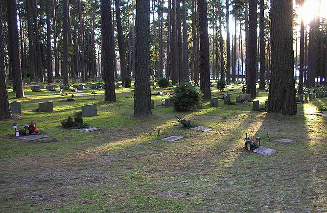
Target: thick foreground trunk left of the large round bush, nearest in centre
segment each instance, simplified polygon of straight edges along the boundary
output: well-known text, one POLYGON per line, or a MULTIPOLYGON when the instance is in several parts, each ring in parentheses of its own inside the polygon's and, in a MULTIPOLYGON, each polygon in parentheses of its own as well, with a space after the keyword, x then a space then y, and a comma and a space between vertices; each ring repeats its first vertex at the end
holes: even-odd
POLYGON ((150 1, 136 2, 136 78, 134 117, 150 118, 150 1))

